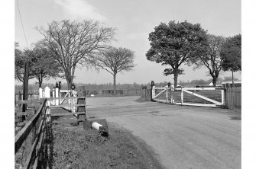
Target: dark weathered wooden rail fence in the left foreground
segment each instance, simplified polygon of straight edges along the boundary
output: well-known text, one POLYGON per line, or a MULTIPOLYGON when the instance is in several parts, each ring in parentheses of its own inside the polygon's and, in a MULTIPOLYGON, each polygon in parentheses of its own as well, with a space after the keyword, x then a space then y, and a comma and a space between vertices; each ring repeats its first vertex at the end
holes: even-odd
MULTIPOLYGON (((18 101, 18 104, 28 104, 28 100, 18 101)), ((23 168, 37 168, 41 157, 41 146, 44 144, 45 128, 47 126, 47 100, 44 99, 37 113, 25 124, 25 126, 15 136, 15 155, 22 145, 29 141, 31 144, 23 168), (29 140, 28 140, 29 139, 29 140), (34 164, 33 164, 34 163, 34 164)))

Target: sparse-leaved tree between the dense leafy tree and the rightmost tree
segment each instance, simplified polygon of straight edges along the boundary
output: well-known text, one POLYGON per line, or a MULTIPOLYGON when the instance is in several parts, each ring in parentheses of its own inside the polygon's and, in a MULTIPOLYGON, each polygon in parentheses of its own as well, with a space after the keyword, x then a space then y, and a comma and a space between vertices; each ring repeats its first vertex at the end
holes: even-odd
POLYGON ((219 72, 222 71, 220 49, 222 44, 225 43, 225 37, 219 37, 211 34, 207 34, 208 46, 204 55, 196 57, 195 69, 206 66, 209 70, 209 75, 212 76, 212 84, 216 86, 216 82, 219 77, 219 72))

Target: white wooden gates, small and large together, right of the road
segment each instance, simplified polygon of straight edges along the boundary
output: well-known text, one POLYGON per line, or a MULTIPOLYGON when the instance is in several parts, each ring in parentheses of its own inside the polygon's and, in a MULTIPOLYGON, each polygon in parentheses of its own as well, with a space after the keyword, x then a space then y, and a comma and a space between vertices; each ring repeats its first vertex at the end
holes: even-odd
POLYGON ((225 105, 224 88, 156 88, 152 86, 152 100, 167 104, 198 107, 225 105))

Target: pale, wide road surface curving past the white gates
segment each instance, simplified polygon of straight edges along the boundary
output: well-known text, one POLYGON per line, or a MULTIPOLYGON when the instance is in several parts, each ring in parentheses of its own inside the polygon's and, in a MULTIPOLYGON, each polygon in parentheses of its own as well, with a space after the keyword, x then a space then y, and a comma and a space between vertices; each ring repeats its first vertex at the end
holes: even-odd
POLYGON ((86 98, 87 115, 131 131, 166 168, 241 168, 241 120, 232 120, 237 112, 137 98, 86 98))

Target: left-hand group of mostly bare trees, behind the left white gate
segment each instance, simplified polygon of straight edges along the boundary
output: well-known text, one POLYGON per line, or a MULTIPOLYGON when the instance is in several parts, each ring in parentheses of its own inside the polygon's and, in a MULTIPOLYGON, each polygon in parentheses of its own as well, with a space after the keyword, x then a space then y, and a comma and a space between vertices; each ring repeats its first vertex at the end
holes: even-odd
POLYGON ((113 75, 114 91, 118 72, 134 67, 134 52, 111 46, 115 28, 103 27, 98 21, 53 21, 36 28, 44 37, 31 49, 18 49, 15 42, 15 79, 24 81, 24 63, 29 62, 29 78, 39 87, 44 78, 64 78, 68 88, 73 84, 78 66, 104 69, 113 75))

